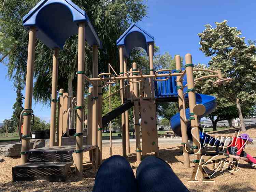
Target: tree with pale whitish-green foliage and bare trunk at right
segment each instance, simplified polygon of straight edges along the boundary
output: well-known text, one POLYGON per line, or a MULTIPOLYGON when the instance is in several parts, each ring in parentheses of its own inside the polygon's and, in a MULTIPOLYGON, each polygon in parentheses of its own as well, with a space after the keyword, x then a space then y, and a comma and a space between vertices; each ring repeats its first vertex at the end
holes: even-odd
MULTIPOLYGON (((242 131, 246 131, 241 105, 255 104, 256 47, 246 45, 245 38, 241 37, 241 31, 235 27, 229 27, 227 20, 215 24, 216 28, 207 24, 205 30, 198 33, 200 50, 205 56, 211 57, 209 61, 211 69, 221 69, 224 77, 233 79, 232 82, 219 87, 218 95, 236 105, 242 131)), ((222 104, 225 103, 222 102, 222 104)))

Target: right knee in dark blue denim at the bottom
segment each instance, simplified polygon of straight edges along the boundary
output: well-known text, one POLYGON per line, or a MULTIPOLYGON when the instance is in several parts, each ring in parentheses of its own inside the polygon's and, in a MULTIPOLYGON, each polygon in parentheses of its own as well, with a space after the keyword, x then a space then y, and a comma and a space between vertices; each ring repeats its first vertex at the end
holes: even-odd
POLYGON ((137 168, 138 192, 188 191, 172 168, 156 157, 145 158, 137 168))

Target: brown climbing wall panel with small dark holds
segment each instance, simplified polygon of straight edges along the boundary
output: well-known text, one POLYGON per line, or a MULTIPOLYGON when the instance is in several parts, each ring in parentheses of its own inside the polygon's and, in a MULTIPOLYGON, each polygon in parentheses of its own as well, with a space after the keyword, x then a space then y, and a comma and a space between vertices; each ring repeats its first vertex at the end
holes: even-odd
POLYGON ((153 101, 140 98, 142 155, 158 152, 156 106, 153 101))

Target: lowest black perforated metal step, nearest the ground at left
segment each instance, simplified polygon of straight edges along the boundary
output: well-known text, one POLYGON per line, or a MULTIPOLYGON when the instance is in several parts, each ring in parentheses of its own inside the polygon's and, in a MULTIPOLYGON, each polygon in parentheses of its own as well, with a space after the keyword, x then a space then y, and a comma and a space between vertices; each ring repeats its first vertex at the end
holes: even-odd
POLYGON ((65 181, 68 169, 73 162, 25 163, 12 168, 12 179, 15 181, 65 181))

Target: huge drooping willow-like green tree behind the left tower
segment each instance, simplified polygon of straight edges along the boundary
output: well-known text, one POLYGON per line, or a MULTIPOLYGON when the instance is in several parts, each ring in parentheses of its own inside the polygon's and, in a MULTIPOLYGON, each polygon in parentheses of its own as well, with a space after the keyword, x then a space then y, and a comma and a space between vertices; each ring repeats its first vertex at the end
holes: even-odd
MULTIPOLYGON (((0 0, 3 4, 4 0, 0 0)), ((5 1, 0 13, 0 51, 2 55, 8 53, 8 75, 13 78, 16 73, 22 74, 25 82, 27 67, 28 32, 22 26, 22 18, 39 0, 8 0, 5 1), (5 44, 5 42, 11 43, 5 44), (12 47, 14 47, 13 49, 12 47), (12 50, 12 51, 10 51, 12 50)), ((146 15, 146 5, 142 0, 73 0, 81 9, 85 10, 102 41, 99 49, 99 72, 107 71, 108 63, 118 70, 118 48, 116 40, 129 27, 130 23, 141 20, 146 15)), ((91 48, 85 45, 85 70, 91 76, 91 48)), ((35 101, 50 103, 52 81, 53 50, 48 49, 39 40, 36 42, 34 88, 35 101)), ((64 88, 70 94, 76 92, 77 79, 77 35, 71 36, 59 54, 58 90, 64 88), (72 83, 71 83, 72 82, 72 83), (68 86, 70 86, 68 88, 68 86), (72 90, 71 86, 74 88, 72 90)), ((86 84, 88 86, 88 83, 86 84)))

